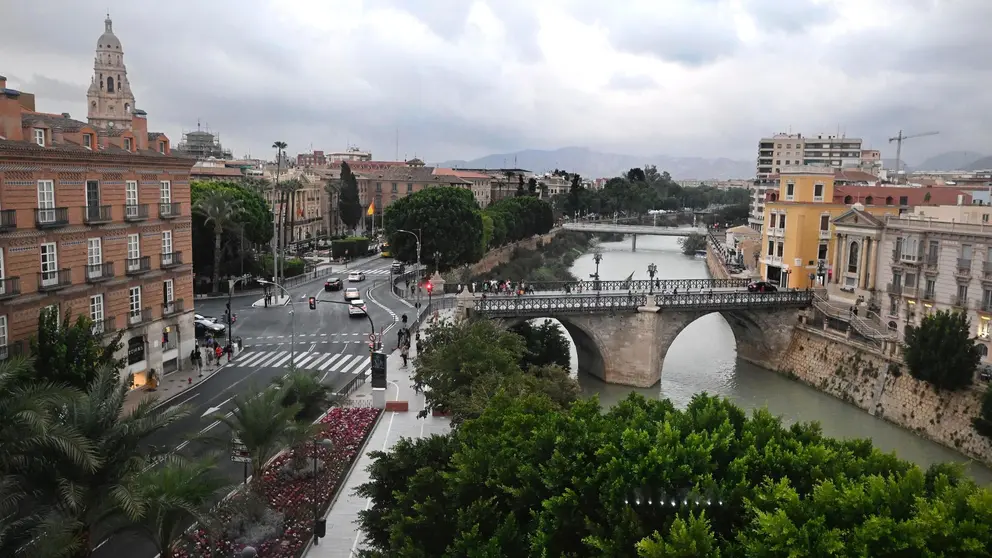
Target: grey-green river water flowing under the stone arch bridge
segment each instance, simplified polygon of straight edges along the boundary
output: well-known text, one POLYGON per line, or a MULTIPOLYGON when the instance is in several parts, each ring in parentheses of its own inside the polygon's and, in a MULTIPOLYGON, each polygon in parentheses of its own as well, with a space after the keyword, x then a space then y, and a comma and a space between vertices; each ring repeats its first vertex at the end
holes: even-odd
MULTIPOLYGON (((637 252, 631 241, 604 242, 599 245, 603 261, 599 267, 603 279, 625 279, 631 272, 635 279, 647 279, 648 264, 658 266, 661 279, 707 277, 706 262, 682 255, 675 237, 641 236, 637 252)), ((596 271, 592 254, 579 257, 572 273, 585 279, 596 271)), ((572 370, 579 370, 572 347, 572 370)), ((956 451, 920 438, 835 397, 806 384, 737 360, 733 331, 719 314, 696 320, 676 338, 665 357, 661 384, 649 389, 610 385, 595 376, 578 373, 579 385, 586 395, 599 394, 604 406, 613 405, 631 391, 646 397, 671 399, 684 408, 694 394, 707 392, 727 397, 745 409, 767 407, 787 424, 817 421, 824 434, 836 438, 870 438, 883 451, 926 467, 935 462, 967 462, 956 451)), ((992 470, 970 463, 969 472, 977 482, 992 484, 992 470)))

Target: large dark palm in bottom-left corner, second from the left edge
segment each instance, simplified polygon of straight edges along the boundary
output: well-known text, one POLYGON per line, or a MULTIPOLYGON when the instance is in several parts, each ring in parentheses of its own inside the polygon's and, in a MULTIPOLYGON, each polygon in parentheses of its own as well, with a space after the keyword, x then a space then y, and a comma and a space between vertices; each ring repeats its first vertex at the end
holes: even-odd
POLYGON ((89 439, 102 461, 79 468, 54 452, 40 452, 29 476, 35 487, 35 525, 22 546, 25 556, 90 556, 94 543, 131 529, 146 505, 135 488, 148 465, 142 440, 186 416, 185 406, 155 408, 147 398, 124 413, 128 393, 117 371, 106 366, 85 397, 69 399, 60 420, 89 439))

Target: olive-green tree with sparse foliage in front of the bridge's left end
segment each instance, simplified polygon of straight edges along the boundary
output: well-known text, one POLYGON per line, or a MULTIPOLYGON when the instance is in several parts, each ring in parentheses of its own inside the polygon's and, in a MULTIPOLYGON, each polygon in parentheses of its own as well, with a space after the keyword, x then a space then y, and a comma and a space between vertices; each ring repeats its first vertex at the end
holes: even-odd
POLYGON ((560 405, 578 395, 566 369, 532 364, 523 337, 489 320, 431 328, 417 356, 414 385, 424 390, 421 413, 451 413, 456 423, 477 416, 499 393, 544 393, 560 405))

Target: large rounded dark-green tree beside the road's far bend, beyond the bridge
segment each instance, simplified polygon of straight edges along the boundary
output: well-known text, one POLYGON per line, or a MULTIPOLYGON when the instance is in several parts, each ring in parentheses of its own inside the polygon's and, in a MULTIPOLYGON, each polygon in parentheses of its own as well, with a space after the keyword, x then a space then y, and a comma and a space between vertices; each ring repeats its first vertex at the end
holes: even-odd
POLYGON ((417 242, 409 230, 420 235, 421 260, 432 261, 440 253, 441 271, 475 263, 482 257, 482 215, 465 188, 425 188, 389 204, 383 217, 393 257, 417 260, 417 242))

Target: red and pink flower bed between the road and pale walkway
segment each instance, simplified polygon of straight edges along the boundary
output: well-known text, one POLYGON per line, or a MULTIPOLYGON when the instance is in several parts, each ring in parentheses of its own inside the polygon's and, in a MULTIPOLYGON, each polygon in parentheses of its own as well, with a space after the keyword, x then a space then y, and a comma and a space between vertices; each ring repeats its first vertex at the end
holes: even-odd
MULTIPOLYGON (((371 433, 379 413, 379 409, 335 407, 321 419, 317 439, 328 439, 333 443, 331 447, 316 447, 317 459, 323 463, 317 473, 316 494, 321 515, 344 482, 348 467, 357 458, 358 450, 371 433)), ((313 461, 314 449, 314 444, 301 448, 308 463, 313 461)), ((262 475, 266 500, 285 518, 281 535, 255 546, 260 558, 296 558, 313 538, 313 477, 307 475, 294 479, 281 473, 283 466, 294 457, 293 451, 287 451, 270 463, 262 475)), ((227 523, 239 507, 243 507, 245 497, 244 493, 238 492, 221 504, 213 515, 222 523, 227 523)), ((197 528, 187 533, 177 546, 176 558, 221 558, 240 551, 244 545, 197 528)))

